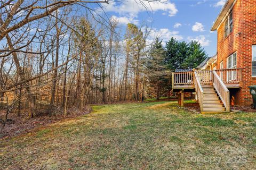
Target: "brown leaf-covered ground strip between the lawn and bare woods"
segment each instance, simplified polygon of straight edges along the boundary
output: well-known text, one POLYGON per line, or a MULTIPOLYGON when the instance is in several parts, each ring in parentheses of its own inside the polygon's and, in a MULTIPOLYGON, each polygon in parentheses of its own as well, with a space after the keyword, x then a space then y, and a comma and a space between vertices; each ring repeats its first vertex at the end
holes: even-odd
MULTIPOLYGON (((75 111, 72 112, 74 114, 68 114, 66 117, 63 115, 52 115, 49 116, 48 114, 41 114, 34 118, 27 118, 27 115, 21 114, 18 116, 15 113, 10 113, 8 115, 8 120, 5 124, 5 127, 0 134, 0 139, 10 139, 12 137, 16 137, 21 133, 27 133, 31 130, 39 127, 45 126, 55 122, 61 122, 63 120, 68 120, 70 118, 75 118, 77 116, 89 114, 91 112, 91 107, 86 107, 82 111, 75 111)), ((3 116, 3 112, 0 112, 0 116, 3 116)))

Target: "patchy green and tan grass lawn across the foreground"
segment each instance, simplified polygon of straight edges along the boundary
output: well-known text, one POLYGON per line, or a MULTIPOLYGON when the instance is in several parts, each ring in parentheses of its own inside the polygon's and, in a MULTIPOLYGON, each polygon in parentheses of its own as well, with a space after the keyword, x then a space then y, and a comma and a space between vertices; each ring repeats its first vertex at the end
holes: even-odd
POLYGON ((177 105, 93 106, 88 115, 0 141, 0 169, 256 167, 256 113, 202 115, 177 105))

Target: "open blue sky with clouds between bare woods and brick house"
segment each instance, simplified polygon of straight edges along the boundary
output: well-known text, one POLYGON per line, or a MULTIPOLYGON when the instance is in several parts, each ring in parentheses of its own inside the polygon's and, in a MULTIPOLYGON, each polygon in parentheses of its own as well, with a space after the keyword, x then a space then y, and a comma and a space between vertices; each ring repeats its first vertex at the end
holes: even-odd
POLYGON ((163 3, 145 3, 146 10, 133 0, 105 5, 110 18, 119 21, 125 29, 129 22, 138 26, 148 25, 152 28, 148 40, 161 36, 163 41, 172 36, 180 41, 198 40, 209 56, 216 53, 217 32, 210 32, 225 0, 218 1, 163 1, 163 3))

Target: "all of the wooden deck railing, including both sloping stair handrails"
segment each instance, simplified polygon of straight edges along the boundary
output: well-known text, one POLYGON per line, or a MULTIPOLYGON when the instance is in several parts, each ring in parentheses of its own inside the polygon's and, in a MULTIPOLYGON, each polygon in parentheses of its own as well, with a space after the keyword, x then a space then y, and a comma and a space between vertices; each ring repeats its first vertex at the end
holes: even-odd
POLYGON ((230 92, 227 87, 239 88, 242 83, 242 69, 203 70, 172 73, 173 89, 195 88, 198 103, 203 112, 204 86, 213 85, 226 111, 230 111, 230 92))

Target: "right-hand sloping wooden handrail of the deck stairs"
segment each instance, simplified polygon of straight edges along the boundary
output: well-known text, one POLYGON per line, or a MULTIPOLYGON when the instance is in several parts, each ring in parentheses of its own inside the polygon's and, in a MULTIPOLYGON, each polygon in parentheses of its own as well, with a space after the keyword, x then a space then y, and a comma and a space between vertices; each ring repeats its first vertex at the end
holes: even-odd
POLYGON ((220 79, 216 71, 213 70, 213 87, 217 91, 223 105, 226 107, 226 111, 230 111, 230 99, 229 99, 229 90, 220 79))

